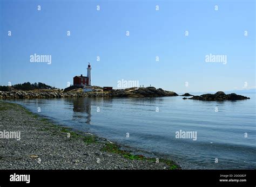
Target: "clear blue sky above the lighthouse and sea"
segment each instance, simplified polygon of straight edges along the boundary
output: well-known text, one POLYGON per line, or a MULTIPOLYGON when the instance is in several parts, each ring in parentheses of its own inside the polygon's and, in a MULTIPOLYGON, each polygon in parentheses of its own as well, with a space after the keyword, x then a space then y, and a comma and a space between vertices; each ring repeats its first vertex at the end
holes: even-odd
POLYGON ((90 62, 99 86, 124 79, 176 92, 255 88, 253 0, 1 0, 0 11, 1 85, 65 88, 90 62), (51 64, 31 63, 35 53, 51 55, 51 64), (227 63, 205 62, 208 54, 226 55, 227 63))

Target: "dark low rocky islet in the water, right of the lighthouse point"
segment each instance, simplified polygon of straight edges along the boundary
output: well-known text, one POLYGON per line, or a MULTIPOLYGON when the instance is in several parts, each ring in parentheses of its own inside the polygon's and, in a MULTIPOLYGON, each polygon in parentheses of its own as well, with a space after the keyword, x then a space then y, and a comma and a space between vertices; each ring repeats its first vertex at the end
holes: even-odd
POLYGON ((223 101, 223 100, 244 100, 250 99, 250 97, 245 97, 241 95, 237 95, 235 93, 225 94, 223 91, 218 91, 214 94, 207 93, 200 96, 193 96, 188 99, 194 100, 208 100, 208 101, 223 101))

